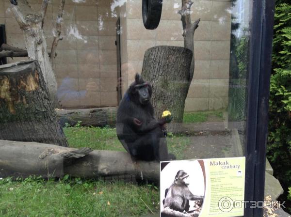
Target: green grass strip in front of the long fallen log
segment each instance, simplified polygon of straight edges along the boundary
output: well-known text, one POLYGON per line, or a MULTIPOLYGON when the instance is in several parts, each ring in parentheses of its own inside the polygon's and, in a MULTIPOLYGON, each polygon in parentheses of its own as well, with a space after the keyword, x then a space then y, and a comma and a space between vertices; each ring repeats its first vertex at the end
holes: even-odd
POLYGON ((153 186, 81 179, 0 180, 1 217, 138 217, 159 210, 153 186))

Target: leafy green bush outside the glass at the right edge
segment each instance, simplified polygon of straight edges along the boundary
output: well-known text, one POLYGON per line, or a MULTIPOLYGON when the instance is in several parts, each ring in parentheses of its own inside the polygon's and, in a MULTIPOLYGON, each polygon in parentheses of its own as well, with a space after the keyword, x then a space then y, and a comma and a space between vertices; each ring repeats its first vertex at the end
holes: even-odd
POLYGON ((291 186, 291 3, 289 0, 276 0, 276 3, 267 155, 275 176, 288 190, 291 186))

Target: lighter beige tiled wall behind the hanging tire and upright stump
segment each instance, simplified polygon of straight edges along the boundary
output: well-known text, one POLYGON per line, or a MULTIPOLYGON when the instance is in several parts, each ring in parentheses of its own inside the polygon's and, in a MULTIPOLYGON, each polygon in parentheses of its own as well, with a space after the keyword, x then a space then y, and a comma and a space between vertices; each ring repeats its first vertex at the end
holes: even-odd
MULTIPOLYGON (((144 52, 158 45, 184 46, 181 0, 163 1, 162 19, 156 30, 143 26, 142 0, 127 0, 128 83, 141 72, 144 52)), ((231 3, 229 0, 194 0, 192 20, 201 18, 194 35, 195 71, 185 110, 227 107, 231 3)))

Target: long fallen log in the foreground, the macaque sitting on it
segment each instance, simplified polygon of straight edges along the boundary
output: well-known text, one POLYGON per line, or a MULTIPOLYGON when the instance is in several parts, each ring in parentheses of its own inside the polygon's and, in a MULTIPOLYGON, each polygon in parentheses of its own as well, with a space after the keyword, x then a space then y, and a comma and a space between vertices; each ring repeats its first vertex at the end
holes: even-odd
POLYGON ((66 148, 36 142, 0 140, 0 177, 101 178, 133 175, 158 181, 160 164, 132 161, 126 152, 66 148))

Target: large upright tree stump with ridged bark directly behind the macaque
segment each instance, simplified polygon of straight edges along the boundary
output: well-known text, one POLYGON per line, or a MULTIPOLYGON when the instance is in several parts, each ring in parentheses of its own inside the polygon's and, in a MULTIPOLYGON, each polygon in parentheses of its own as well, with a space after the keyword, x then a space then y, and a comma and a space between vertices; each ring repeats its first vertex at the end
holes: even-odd
POLYGON ((191 81, 189 72, 193 53, 184 47, 157 46, 146 50, 142 76, 153 86, 152 104, 157 118, 170 110, 173 121, 167 130, 182 130, 185 99, 191 81))

